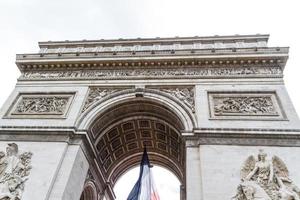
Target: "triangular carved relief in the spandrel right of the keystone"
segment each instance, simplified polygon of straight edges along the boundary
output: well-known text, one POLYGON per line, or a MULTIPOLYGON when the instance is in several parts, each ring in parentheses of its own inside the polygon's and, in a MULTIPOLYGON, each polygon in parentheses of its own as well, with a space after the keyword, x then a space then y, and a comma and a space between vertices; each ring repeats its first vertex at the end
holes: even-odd
POLYGON ((172 95, 187 105, 193 112, 195 111, 194 87, 161 88, 160 90, 172 95))

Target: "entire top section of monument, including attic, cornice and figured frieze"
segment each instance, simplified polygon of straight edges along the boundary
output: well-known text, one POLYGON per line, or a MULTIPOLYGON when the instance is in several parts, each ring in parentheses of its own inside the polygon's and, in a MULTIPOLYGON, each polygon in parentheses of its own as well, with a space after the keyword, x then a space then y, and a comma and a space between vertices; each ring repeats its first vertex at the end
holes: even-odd
POLYGON ((19 80, 282 78, 288 47, 269 35, 40 42, 19 80))

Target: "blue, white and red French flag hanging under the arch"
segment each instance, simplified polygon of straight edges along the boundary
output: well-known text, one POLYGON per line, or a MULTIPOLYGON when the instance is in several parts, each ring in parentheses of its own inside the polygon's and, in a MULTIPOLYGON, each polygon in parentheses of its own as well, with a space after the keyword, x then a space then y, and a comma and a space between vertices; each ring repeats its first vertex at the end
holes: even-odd
POLYGON ((146 148, 140 165, 139 179, 129 193, 127 200, 159 200, 146 148))

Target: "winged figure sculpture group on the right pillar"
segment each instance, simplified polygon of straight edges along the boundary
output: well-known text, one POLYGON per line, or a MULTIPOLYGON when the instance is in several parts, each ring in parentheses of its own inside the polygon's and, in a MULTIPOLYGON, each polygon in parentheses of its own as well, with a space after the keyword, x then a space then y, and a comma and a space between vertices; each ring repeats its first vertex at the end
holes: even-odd
POLYGON ((289 177, 284 162, 274 155, 272 159, 260 150, 249 156, 241 169, 241 183, 233 200, 298 200, 300 189, 289 177))

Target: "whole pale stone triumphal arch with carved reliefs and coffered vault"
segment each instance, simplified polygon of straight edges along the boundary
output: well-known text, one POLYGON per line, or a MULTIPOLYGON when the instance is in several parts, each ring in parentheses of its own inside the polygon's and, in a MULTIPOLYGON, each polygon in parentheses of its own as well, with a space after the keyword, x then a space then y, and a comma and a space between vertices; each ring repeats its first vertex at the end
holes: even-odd
POLYGON ((49 41, 18 54, 0 111, 0 200, 113 200, 144 147, 182 200, 299 200, 288 48, 268 37, 49 41))

